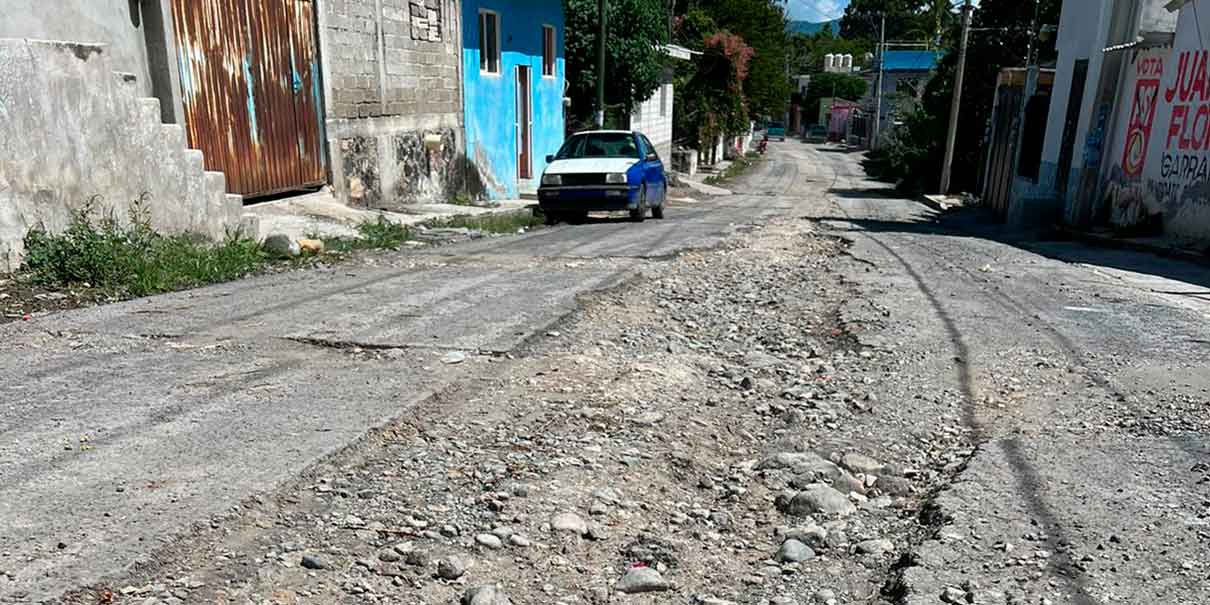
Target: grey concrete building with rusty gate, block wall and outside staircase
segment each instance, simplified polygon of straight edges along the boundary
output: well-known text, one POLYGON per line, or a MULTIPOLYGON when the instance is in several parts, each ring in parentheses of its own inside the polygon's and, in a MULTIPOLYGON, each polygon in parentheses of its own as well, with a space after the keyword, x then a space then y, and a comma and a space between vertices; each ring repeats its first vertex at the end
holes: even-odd
POLYGON ((39 151, 0 150, 0 258, 90 200, 221 237, 267 196, 332 186, 398 209, 466 188, 460 0, 0 0, 0 96, 21 99, 0 136, 39 151))

